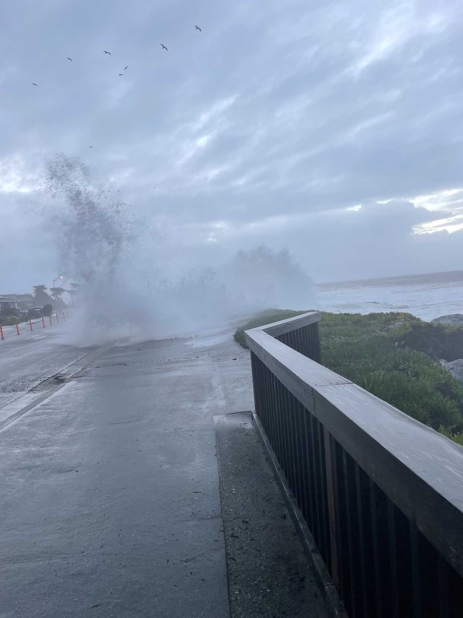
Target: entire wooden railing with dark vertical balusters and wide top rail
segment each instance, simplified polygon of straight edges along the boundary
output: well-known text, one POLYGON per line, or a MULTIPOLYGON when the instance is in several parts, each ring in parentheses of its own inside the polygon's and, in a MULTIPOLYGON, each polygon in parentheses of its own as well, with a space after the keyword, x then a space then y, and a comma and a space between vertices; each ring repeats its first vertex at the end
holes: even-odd
POLYGON ((319 320, 246 331, 272 457, 351 618, 461 617, 463 448, 319 365, 319 320))

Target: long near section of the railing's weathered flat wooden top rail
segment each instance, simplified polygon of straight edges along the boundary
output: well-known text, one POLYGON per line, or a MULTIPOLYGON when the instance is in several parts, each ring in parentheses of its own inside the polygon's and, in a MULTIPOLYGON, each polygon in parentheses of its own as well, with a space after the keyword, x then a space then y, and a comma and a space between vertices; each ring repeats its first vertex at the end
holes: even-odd
POLYGON ((266 330, 251 351, 463 575, 462 447, 266 330))

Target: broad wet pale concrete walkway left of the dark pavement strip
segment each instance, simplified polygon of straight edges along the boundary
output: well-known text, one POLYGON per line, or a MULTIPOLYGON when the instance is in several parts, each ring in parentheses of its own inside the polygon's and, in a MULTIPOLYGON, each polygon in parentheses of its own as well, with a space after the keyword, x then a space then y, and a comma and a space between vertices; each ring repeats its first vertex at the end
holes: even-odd
POLYGON ((108 350, 6 426, 0 616, 230 616, 213 417, 251 408, 223 331, 108 350))

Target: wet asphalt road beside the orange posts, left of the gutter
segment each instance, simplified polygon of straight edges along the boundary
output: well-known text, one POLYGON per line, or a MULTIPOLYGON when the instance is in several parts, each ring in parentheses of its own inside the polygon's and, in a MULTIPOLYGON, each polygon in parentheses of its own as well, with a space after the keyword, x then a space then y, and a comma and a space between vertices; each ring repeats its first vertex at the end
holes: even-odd
POLYGON ((52 326, 41 320, 3 328, 4 340, 0 340, 0 409, 18 399, 42 380, 55 375, 65 366, 75 363, 94 348, 78 348, 60 343, 62 335, 70 324, 52 326))

